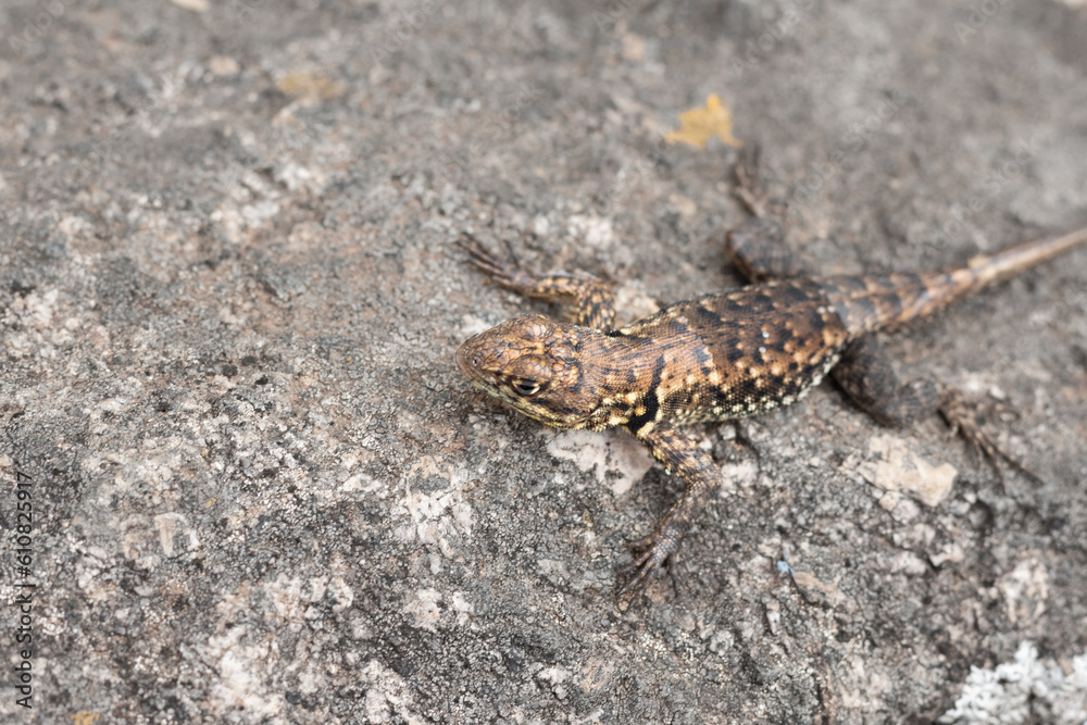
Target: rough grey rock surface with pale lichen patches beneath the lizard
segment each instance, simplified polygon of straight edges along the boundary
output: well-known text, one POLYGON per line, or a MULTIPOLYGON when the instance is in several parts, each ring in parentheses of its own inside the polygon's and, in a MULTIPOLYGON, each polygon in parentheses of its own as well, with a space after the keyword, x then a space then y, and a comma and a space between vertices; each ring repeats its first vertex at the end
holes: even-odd
POLYGON ((1046 485, 824 386, 692 430, 721 498, 626 612, 675 482, 452 362, 532 307, 465 229, 628 318, 739 284, 735 150, 664 142, 711 93, 828 271, 1083 223, 1076 4, 4 3, 0 720, 926 722, 1023 642, 1080 655, 1085 250, 887 338, 1046 485))

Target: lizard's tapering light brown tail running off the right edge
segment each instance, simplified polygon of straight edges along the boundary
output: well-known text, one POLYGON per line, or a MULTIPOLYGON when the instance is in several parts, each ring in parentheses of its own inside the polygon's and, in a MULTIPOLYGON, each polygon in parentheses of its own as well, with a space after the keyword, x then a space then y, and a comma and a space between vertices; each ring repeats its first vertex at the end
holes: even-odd
POLYGON ((1012 277, 1087 243, 1087 227, 1058 237, 1026 241, 966 266, 928 274, 888 274, 827 279, 827 298, 851 335, 895 327, 923 317, 982 287, 1012 277))

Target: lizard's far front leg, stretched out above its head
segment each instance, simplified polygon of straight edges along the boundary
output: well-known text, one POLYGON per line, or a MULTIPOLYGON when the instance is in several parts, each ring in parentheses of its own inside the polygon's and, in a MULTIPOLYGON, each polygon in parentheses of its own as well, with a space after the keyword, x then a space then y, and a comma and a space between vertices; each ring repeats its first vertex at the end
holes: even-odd
POLYGON ((513 257, 513 250, 507 250, 510 261, 500 260, 467 233, 458 243, 472 255, 472 263, 499 287, 525 297, 558 302, 564 305, 564 316, 575 325, 611 332, 615 320, 615 295, 604 280, 586 273, 541 275, 529 272, 513 257))

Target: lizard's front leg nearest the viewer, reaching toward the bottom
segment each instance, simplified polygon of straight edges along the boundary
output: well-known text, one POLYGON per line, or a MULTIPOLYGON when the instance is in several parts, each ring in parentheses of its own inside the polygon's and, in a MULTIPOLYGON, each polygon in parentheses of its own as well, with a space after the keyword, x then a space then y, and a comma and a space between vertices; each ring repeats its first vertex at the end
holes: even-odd
POLYGON ((620 589, 620 597, 630 596, 645 586, 646 578, 675 554, 679 542, 721 485, 713 459, 694 438, 658 423, 638 439, 669 473, 679 476, 687 488, 657 522, 652 534, 630 543, 636 555, 623 571, 628 579, 620 589))

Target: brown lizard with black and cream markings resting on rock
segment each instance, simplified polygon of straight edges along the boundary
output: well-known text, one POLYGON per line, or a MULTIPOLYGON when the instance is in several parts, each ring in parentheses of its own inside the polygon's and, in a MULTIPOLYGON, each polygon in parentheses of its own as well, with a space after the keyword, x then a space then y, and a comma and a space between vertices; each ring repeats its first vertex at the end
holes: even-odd
POLYGON ((878 422, 904 426, 941 413, 980 449, 1029 474, 978 424, 965 397, 929 380, 903 383, 875 333, 930 315, 949 302, 1087 242, 1087 227, 1022 242, 934 273, 814 274, 784 252, 783 226, 746 188, 753 217, 726 235, 751 284, 671 304, 614 326, 614 293, 586 273, 535 274, 464 233, 459 245, 500 287, 565 304, 564 320, 526 314, 465 340, 457 365, 477 388, 547 426, 623 427, 685 490, 648 536, 629 546, 620 597, 634 596, 667 562, 720 486, 710 453, 678 428, 759 415, 797 402, 830 374, 878 422))

